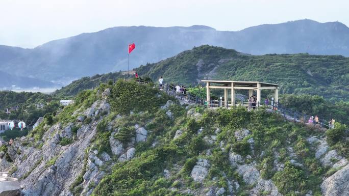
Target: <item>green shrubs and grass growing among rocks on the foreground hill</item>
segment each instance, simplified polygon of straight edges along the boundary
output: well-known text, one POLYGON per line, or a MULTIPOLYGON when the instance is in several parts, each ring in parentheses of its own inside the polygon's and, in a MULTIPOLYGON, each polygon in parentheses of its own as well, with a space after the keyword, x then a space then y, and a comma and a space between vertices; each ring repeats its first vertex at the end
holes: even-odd
MULTIPOLYGON (((305 139, 310 135, 322 133, 307 130, 302 125, 285 122, 282 117, 267 113, 263 109, 247 111, 243 107, 230 110, 204 110, 197 107, 195 110, 203 116, 195 121, 187 116, 184 106, 174 104, 169 108, 173 114, 173 119, 170 119, 165 114, 167 110, 160 109, 160 105, 170 97, 162 95, 159 98, 157 90, 136 82, 118 81, 113 86, 101 85, 94 91, 81 92, 74 98, 74 104, 60 110, 51 123, 48 123, 49 120, 45 118, 44 123, 33 130, 30 136, 36 140, 41 139, 43 131, 47 130, 44 124, 75 123, 77 116, 72 115, 73 111, 78 108, 85 109, 95 100, 101 99, 101 94, 98 95, 97 92, 103 92, 106 88, 111 89, 111 95, 108 98, 111 103, 111 113, 98 116, 98 119, 103 117, 103 120, 97 126, 94 144, 91 144, 91 147, 97 149, 99 153, 104 151, 110 153, 111 131, 117 128, 126 130, 122 135, 116 134, 115 137, 122 139, 120 140, 122 142, 127 142, 135 134, 132 131, 134 124, 145 127, 148 130, 148 137, 146 142, 135 146, 134 159, 116 163, 112 167, 104 167, 108 175, 95 187, 93 195, 191 195, 184 193, 184 190, 202 191, 210 186, 225 187, 227 190, 227 179, 240 183, 241 187, 236 195, 248 195, 248 190, 252 186, 245 185, 241 176, 236 173, 236 168, 230 165, 229 152, 236 152, 243 157, 251 155, 252 159, 247 159, 247 163, 256 161, 262 177, 272 179, 284 195, 294 195, 293 191, 305 194, 308 190, 313 190, 313 195, 320 195, 319 184, 321 178, 327 175, 328 169, 322 167, 315 159, 314 152, 305 139), (134 95, 134 98, 130 99, 130 95, 134 95), (149 104, 149 99, 154 101, 149 104), (125 102, 129 104, 121 107, 125 102), (134 111, 134 114, 129 115, 130 111, 134 111), (117 118, 117 114, 123 115, 117 118), (108 125, 112 126, 111 129, 107 128, 108 125), (200 127, 203 127, 204 131, 197 134, 200 127), (205 142, 204 137, 214 135, 217 127, 221 130, 217 135, 217 141, 213 144, 205 142), (242 128, 251 130, 252 134, 242 141, 237 141, 234 132, 242 128), (183 130, 182 136, 173 139, 179 129, 183 130), (246 142, 251 137, 255 141, 254 152, 246 142), (221 150, 220 141, 225 143, 224 151, 221 150), (155 142, 157 145, 153 147, 155 142), (296 153, 296 158, 293 159, 302 163, 304 167, 289 164, 290 157, 286 147, 293 147, 296 153), (212 156, 206 155, 208 149, 212 149, 212 156), (262 151, 265 153, 263 157, 260 156, 262 151), (280 154, 278 161, 286 165, 283 172, 272 170, 275 152, 280 154), (208 176, 203 183, 196 183, 190 178, 190 172, 197 158, 208 159, 211 164, 208 176), (163 177, 164 169, 172 173, 169 179, 163 177), (213 177, 217 177, 217 180, 212 180, 213 177), (170 190, 172 187, 176 190, 170 190)), ((85 120, 84 123, 90 122, 91 120, 85 120)), ((339 143, 336 142, 333 145, 339 145, 339 143)), ((338 148, 343 149, 342 146, 338 148)), ((347 154, 347 151, 340 153, 347 154)), ((117 157, 112 158, 117 159, 117 157)), ((78 186, 80 183, 82 182, 79 181, 74 185, 78 186)))

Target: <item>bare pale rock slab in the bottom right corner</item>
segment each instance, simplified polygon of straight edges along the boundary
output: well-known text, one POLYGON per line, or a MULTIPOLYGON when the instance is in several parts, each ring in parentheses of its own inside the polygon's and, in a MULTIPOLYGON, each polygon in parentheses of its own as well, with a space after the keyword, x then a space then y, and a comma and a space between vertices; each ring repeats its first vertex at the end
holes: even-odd
POLYGON ((349 195, 349 165, 327 178, 321 184, 323 196, 347 196, 349 195))

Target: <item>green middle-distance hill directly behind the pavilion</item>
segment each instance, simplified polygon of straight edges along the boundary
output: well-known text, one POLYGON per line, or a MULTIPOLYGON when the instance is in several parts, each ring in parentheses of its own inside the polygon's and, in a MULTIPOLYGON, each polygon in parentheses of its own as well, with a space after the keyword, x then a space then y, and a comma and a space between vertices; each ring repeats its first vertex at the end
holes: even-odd
MULTIPOLYGON (((282 85, 282 94, 320 95, 328 100, 349 101, 349 58, 340 55, 250 55, 203 45, 134 71, 154 81, 163 76, 165 82, 186 86, 195 86, 201 79, 264 81, 282 85)), ((84 77, 56 93, 73 95, 114 77, 125 76, 117 72, 84 77)))

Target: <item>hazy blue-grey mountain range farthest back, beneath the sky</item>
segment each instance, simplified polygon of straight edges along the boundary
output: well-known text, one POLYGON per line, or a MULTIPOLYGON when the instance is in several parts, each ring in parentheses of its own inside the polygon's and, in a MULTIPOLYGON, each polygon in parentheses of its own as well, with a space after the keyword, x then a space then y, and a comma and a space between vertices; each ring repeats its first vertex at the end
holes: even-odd
MULTIPOLYGON (((347 26, 340 22, 319 23, 306 19, 263 24, 238 32, 216 31, 199 25, 112 27, 51 41, 33 49, 0 46, 0 69, 15 76, 54 81, 62 86, 82 76, 127 70, 127 47, 133 42, 136 49, 130 54, 130 69, 203 44, 257 55, 308 52, 349 56, 347 26)), ((15 81, 15 76, 8 81, 22 86, 23 82, 15 81)))

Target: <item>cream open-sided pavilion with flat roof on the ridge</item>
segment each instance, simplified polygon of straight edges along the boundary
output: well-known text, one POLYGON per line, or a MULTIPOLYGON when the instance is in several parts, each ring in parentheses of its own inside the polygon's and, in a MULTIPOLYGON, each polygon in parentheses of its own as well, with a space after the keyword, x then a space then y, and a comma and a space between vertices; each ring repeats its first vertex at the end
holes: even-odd
POLYGON ((279 89, 281 85, 274 83, 266 83, 260 81, 228 81, 228 80, 201 80, 206 82, 206 100, 211 100, 211 89, 223 89, 224 90, 224 105, 228 107, 228 91, 231 91, 231 106, 235 105, 235 90, 242 89, 248 90, 248 96, 252 97, 254 91, 256 91, 256 102, 261 102, 261 90, 274 90, 274 100, 279 101, 279 89))

